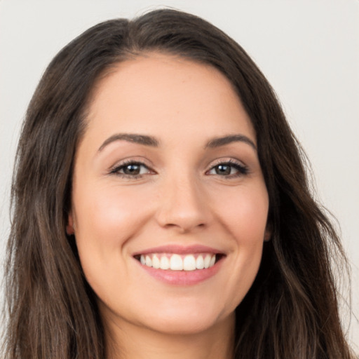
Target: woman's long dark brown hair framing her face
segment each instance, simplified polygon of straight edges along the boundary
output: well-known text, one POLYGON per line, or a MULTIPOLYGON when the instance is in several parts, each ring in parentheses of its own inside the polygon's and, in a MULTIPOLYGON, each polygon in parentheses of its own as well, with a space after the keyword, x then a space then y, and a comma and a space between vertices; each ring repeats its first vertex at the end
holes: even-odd
POLYGON ((236 309, 234 358, 351 358, 341 329, 331 259, 346 267, 337 233, 313 200, 304 154, 254 62, 194 15, 152 11, 102 22, 53 59, 27 110, 13 177, 8 241, 6 359, 104 359, 95 294, 65 227, 77 144, 91 90, 129 57, 161 51, 219 69, 257 134, 269 192, 271 241, 236 309))

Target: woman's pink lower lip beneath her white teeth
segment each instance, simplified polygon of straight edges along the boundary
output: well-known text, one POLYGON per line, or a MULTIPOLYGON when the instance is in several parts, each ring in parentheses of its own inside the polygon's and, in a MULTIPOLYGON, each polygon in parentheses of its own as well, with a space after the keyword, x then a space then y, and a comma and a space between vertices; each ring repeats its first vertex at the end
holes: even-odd
MULTIPOLYGON (((137 260, 137 259, 136 259, 137 260)), ((207 269, 196 269, 194 271, 170 271, 164 269, 155 269, 151 266, 138 264, 149 273, 150 276, 161 280, 164 283, 172 285, 195 285, 215 276, 222 265, 223 259, 219 259, 214 266, 207 269)))

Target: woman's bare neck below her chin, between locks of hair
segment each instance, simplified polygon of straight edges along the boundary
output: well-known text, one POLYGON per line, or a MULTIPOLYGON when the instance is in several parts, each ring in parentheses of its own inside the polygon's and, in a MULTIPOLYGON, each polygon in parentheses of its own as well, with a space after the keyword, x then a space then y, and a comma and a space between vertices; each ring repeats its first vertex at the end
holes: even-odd
POLYGON ((107 325, 107 359, 233 358, 234 313, 207 330, 169 334, 128 322, 107 325))

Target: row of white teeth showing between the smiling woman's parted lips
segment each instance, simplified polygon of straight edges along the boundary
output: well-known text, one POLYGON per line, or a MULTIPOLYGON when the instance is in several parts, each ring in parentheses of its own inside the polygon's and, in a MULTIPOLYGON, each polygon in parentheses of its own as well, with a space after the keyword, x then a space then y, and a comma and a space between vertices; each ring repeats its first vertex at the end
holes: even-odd
POLYGON ((135 255, 144 266, 165 271, 196 271, 214 266, 224 255, 215 253, 195 253, 179 255, 175 253, 149 253, 135 255))

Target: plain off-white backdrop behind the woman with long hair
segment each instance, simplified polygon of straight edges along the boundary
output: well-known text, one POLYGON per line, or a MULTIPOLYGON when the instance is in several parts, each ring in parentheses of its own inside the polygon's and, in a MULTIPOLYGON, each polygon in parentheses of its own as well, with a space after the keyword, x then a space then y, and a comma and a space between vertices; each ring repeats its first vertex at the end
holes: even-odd
POLYGON ((340 224, 352 266, 353 296, 352 313, 344 306, 343 316, 346 325, 351 318, 348 337, 358 351, 358 0, 0 0, 1 261, 22 118, 48 62, 97 22, 132 18, 158 6, 194 13, 223 29, 247 50, 276 90, 311 160, 318 199, 340 224))

